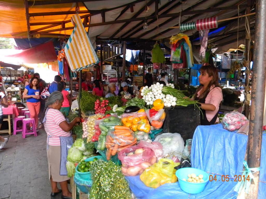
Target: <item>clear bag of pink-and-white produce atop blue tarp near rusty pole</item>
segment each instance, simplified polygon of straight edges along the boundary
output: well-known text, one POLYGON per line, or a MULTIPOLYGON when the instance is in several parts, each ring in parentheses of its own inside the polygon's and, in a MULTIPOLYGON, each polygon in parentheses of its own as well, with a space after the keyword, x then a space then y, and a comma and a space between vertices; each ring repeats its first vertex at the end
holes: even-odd
POLYGON ((246 116, 239 112, 227 113, 222 120, 223 128, 227 129, 228 131, 238 130, 247 122, 248 119, 246 116))

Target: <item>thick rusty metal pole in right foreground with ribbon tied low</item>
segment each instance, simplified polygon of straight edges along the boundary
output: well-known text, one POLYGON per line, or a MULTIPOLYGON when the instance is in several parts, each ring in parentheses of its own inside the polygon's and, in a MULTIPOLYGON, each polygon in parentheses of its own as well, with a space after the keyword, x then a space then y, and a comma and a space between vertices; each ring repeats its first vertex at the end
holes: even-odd
MULTIPOLYGON (((249 168, 260 166, 263 110, 265 98, 266 66, 266 1, 256 1, 255 42, 252 69, 252 90, 250 125, 247 144, 247 163, 249 168)), ((257 198, 259 190, 259 171, 253 173, 249 194, 245 198, 257 198)))

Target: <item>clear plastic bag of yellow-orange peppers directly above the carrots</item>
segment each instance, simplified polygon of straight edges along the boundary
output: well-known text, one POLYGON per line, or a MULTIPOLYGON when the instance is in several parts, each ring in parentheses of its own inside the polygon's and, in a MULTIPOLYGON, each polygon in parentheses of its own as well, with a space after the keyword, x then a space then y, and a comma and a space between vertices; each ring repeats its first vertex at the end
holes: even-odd
POLYGON ((121 116, 123 125, 132 131, 151 133, 151 126, 149 125, 149 120, 145 112, 124 113, 121 116))

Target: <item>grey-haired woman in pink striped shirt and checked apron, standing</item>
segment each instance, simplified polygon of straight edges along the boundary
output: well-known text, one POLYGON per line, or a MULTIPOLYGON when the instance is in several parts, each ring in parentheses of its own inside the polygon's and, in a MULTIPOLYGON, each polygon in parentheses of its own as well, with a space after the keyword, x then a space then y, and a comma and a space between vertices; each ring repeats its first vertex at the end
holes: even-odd
POLYGON ((80 122, 76 117, 72 122, 66 122, 63 113, 60 112, 63 95, 59 91, 53 92, 46 101, 43 123, 47 137, 47 158, 49 179, 51 180, 52 192, 51 198, 62 192, 63 199, 71 199, 72 194, 68 190, 66 156, 68 149, 73 144, 70 130, 80 122), (62 190, 57 188, 57 182, 60 183, 62 190))

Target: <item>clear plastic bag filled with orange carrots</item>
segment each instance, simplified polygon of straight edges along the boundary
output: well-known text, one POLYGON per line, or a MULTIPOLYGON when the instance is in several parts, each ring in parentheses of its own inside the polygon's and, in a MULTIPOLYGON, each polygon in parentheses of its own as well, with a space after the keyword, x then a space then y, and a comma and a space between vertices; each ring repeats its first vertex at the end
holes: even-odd
POLYGON ((116 155, 118 151, 134 146, 136 143, 137 139, 131 130, 108 132, 105 142, 106 159, 110 160, 111 156, 116 155))

